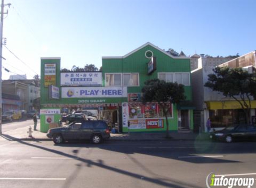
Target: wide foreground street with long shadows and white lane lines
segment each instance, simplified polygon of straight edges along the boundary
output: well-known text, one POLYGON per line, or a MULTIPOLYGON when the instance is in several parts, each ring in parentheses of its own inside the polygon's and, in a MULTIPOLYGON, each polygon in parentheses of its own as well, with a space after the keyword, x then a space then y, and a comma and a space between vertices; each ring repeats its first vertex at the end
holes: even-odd
POLYGON ((0 141, 4 188, 206 188, 210 172, 256 177, 256 143, 0 141))

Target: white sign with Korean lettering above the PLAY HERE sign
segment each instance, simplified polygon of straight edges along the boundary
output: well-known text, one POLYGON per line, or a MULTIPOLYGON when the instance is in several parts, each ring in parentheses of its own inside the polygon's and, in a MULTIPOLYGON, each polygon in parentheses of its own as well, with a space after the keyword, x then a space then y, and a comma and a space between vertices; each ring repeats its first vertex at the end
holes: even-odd
POLYGON ((102 86, 101 72, 72 72, 60 74, 61 86, 102 86))

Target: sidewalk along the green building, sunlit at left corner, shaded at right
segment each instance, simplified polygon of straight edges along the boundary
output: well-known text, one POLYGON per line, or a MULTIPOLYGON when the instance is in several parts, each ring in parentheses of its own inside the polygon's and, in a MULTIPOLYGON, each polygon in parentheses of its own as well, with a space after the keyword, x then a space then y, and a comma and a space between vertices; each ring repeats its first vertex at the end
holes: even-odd
MULTIPOLYGON (((38 123, 38 131, 34 131, 32 136, 34 138, 30 138, 28 135, 29 126, 18 128, 12 131, 2 132, 0 136, 0 140, 51 140, 46 136, 46 133, 40 132, 40 123, 38 123)), ((33 128, 33 127, 32 127, 33 128)), ((130 135, 127 133, 123 134, 110 134, 110 140, 123 140, 123 141, 131 141, 131 140, 208 140, 209 135, 206 133, 202 133, 201 136, 195 133, 177 133, 170 132, 170 138, 166 138, 166 133, 138 133, 138 132, 130 132, 130 135)))

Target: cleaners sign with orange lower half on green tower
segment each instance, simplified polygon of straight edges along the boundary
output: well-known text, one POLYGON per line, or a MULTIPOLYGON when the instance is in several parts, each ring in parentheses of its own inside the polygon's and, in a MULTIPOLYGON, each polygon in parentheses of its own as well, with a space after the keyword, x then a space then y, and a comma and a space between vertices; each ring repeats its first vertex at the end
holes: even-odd
POLYGON ((56 64, 44 65, 44 86, 56 85, 56 64))

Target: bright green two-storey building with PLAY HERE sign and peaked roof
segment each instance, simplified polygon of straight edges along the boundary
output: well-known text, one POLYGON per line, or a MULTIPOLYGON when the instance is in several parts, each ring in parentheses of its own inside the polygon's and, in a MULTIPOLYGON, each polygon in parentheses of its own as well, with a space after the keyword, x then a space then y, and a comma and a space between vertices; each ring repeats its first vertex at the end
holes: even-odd
POLYGON ((57 122, 63 109, 88 109, 97 110, 118 132, 127 132, 128 122, 130 131, 165 131, 157 103, 141 102, 144 82, 153 78, 185 85, 187 101, 172 105, 169 130, 193 130, 190 59, 174 57, 149 42, 122 57, 102 57, 102 72, 60 73, 60 58, 42 58, 41 130, 48 130, 50 120, 57 122))

